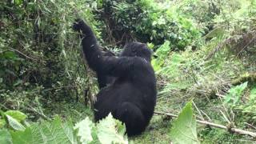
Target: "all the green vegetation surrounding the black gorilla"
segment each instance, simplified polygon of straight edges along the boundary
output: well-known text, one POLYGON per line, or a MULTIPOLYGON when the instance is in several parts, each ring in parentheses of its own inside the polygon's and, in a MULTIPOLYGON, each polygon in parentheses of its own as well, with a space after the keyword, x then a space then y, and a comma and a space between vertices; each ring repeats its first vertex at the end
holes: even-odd
POLYGON ((255 18, 255 0, 3 0, 0 143, 254 143, 195 122, 256 133, 255 18), (182 111, 177 119, 154 114, 129 139, 110 115, 91 121, 98 86, 70 27, 78 17, 104 49, 140 41, 154 50, 156 111, 182 111))

